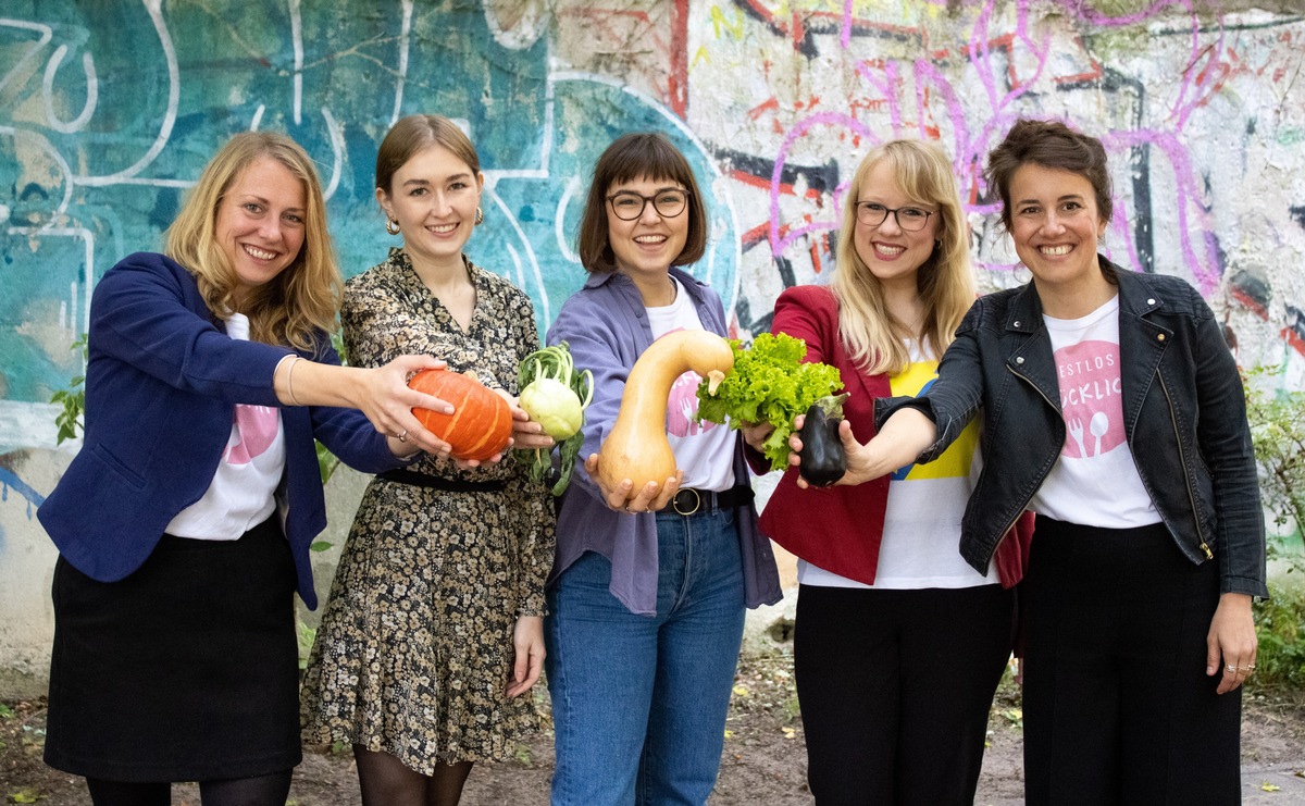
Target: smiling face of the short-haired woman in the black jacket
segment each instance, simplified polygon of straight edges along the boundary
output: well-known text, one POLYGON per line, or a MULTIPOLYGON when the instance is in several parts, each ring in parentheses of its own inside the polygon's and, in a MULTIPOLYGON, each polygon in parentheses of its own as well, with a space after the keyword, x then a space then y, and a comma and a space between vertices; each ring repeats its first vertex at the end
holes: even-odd
POLYGON ((1010 235, 1040 293, 1078 295, 1105 283, 1096 258, 1107 222, 1092 184, 1035 163, 1010 179, 1010 235))

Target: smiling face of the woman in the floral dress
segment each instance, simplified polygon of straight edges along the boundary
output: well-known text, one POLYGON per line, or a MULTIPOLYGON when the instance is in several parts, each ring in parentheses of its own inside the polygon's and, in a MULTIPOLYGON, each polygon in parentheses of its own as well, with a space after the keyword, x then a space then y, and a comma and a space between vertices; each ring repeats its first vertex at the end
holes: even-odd
POLYGON ((483 185, 484 176, 453 151, 432 143, 394 172, 389 193, 377 188, 376 200, 399 223, 403 250, 415 263, 461 262, 483 185))

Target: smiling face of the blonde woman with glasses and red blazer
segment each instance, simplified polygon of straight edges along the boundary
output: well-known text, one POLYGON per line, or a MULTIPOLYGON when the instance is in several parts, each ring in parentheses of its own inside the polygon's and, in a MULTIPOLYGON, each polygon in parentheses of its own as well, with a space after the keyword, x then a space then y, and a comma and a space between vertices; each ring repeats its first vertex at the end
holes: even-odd
POLYGON ((907 198, 887 160, 876 163, 867 173, 865 181, 856 189, 856 203, 870 205, 872 210, 898 210, 897 215, 887 214, 877 226, 861 223, 859 210, 852 243, 856 254, 881 283, 910 283, 914 288, 916 271, 933 254, 933 241, 938 237, 941 216, 937 210, 907 198), (910 232, 898 223, 908 216, 917 220, 921 214, 929 215, 919 231, 910 232))

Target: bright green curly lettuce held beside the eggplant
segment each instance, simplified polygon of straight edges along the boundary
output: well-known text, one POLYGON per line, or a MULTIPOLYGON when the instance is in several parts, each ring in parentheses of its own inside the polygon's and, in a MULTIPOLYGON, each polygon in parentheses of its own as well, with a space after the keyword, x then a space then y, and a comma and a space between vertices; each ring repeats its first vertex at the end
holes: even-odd
POLYGON ((793 417, 843 387, 838 368, 804 363, 806 342, 786 334, 763 333, 746 350, 739 339, 729 339, 729 347, 735 353, 733 369, 726 373, 715 393, 709 389, 710 381, 702 381, 696 419, 729 428, 770 423, 775 430, 766 440, 763 453, 771 470, 784 470, 793 417))

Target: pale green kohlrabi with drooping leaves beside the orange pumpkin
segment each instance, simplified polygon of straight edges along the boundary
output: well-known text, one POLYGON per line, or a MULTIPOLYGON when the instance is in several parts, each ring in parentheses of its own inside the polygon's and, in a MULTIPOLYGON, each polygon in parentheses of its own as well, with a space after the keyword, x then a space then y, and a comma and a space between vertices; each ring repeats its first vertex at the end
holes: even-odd
POLYGON ((530 463, 530 477, 552 484, 555 496, 561 496, 570 483, 579 446, 585 441, 585 407, 594 396, 594 376, 587 369, 576 372, 566 342, 532 352, 522 360, 517 370, 521 389, 521 408, 539 423, 544 433, 557 445, 557 459, 545 449, 517 451, 522 462, 530 463))

